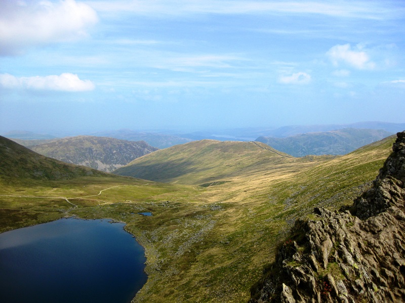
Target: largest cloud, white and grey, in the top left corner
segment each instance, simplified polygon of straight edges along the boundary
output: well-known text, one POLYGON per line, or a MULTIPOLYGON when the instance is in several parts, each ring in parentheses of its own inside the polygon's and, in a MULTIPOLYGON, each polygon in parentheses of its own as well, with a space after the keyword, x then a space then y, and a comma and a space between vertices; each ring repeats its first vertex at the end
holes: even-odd
POLYGON ((90 6, 74 0, 0 1, 0 55, 82 38, 87 35, 86 28, 97 21, 90 6))

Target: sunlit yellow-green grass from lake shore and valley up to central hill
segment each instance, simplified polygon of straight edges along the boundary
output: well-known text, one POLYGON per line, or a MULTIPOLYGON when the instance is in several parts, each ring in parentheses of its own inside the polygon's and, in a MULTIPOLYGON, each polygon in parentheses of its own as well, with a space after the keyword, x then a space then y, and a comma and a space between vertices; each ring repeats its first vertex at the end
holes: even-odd
MULTIPOLYGON (((107 176, 3 182, 0 231, 72 215, 123 221, 147 257, 148 281, 137 301, 246 302, 294 221, 310 216, 314 206, 350 204, 375 179, 392 143, 387 139, 342 157, 290 158, 251 142, 242 149, 221 143, 217 151, 209 140, 195 147, 204 153, 192 166, 185 157, 186 169, 177 176, 161 171, 172 183, 107 176)), ((159 157, 180 159, 169 156, 159 157)))

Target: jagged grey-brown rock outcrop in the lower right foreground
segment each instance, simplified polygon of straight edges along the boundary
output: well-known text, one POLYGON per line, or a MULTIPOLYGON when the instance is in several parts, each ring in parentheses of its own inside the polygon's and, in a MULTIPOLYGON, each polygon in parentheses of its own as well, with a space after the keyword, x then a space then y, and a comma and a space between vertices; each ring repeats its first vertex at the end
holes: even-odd
POLYGON ((298 221, 253 302, 405 301, 405 132, 349 210, 298 221))

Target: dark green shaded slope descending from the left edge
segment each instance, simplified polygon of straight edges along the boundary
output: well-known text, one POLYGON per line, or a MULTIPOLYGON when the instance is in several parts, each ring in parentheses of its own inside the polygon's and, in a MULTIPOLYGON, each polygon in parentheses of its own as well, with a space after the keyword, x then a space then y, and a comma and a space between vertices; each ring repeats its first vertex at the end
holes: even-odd
POLYGON ((0 136, 0 178, 8 180, 64 180, 106 173, 47 158, 0 136))

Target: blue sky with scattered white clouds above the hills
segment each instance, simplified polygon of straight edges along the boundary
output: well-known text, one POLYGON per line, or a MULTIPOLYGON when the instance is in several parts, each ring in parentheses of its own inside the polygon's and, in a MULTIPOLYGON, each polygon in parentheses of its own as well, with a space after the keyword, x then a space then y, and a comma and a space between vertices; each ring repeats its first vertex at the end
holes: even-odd
POLYGON ((405 122, 405 1, 0 0, 0 131, 405 122))

